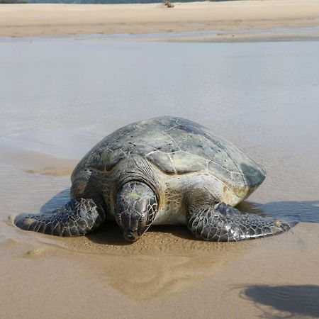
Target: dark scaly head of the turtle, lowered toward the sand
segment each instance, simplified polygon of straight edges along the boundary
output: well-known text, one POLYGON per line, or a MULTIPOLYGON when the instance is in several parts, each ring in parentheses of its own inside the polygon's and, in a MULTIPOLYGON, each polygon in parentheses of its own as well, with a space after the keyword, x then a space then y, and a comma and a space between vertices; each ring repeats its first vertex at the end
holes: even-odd
POLYGON ((135 242, 150 227, 157 212, 157 198, 149 186, 129 181, 116 194, 116 223, 125 240, 135 242))

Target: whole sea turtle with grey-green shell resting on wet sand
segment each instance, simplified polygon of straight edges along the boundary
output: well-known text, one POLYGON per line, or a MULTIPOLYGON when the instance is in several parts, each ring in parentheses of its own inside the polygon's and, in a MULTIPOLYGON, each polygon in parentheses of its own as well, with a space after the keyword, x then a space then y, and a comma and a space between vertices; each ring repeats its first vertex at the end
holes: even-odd
POLYGON ((171 116, 126 125, 103 138, 72 173, 62 208, 20 214, 24 230, 85 235, 116 220, 128 241, 150 225, 187 225, 202 240, 275 235, 293 224, 233 208, 264 181, 264 169, 197 123, 171 116))

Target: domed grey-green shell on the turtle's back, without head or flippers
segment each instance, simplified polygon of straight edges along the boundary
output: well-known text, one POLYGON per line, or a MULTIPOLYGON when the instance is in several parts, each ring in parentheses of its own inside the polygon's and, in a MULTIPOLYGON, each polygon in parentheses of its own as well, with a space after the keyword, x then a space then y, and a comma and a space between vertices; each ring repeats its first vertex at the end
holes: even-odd
MULTIPOLYGON (((164 116, 126 125, 103 138, 79 163, 109 171, 123 158, 140 155, 166 174, 206 172, 237 196, 248 195, 265 172, 227 140, 184 118, 164 116)), ((79 166, 78 165, 78 166, 79 166)))

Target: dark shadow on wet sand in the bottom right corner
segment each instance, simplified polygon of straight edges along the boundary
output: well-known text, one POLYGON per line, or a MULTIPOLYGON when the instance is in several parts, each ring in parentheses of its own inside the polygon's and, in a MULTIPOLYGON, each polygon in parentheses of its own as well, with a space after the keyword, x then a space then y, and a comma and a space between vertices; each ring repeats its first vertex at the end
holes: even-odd
POLYGON ((252 285, 242 289, 240 297, 253 301, 254 305, 264 313, 263 318, 301 318, 301 316, 318 318, 319 316, 317 285, 252 285))

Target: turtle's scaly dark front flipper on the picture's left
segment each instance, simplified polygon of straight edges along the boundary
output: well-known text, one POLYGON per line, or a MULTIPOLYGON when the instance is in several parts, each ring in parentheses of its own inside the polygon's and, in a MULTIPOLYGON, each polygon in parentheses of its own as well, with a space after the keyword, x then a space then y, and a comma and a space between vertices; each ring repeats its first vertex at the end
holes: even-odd
POLYGON ((37 214, 20 214, 14 223, 23 230, 56 236, 85 235, 105 220, 103 208, 91 198, 71 199, 62 208, 37 214))

